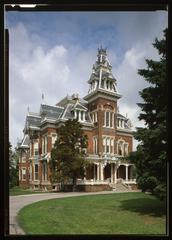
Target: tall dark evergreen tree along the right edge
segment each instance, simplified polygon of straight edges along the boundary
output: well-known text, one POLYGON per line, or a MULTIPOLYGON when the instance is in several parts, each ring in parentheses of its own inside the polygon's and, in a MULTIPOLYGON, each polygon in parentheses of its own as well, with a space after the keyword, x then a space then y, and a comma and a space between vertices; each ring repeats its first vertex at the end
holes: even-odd
POLYGON ((149 190, 160 199, 166 196, 167 179, 167 76, 166 76, 166 36, 155 39, 153 46, 160 55, 159 61, 146 59, 147 69, 138 73, 150 83, 139 92, 143 103, 140 120, 145 121, 145 128, 137 128, 135 138, 140 142, 137 151, 130 155, 137 170, 138 186, 149 190))

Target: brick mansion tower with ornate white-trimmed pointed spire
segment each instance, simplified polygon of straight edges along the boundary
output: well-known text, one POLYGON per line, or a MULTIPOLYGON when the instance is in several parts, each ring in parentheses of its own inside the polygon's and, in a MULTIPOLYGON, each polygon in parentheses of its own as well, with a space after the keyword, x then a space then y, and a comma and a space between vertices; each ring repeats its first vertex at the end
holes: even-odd
POLYGON ((98 49, 97 60, 93 64, 88 94, 88 109, 94 122, 93 149, 95 154, 116 152, 117 91, 116 79, 104 48, 98 49), (113 149, 112 149, 113 148, 113 149))

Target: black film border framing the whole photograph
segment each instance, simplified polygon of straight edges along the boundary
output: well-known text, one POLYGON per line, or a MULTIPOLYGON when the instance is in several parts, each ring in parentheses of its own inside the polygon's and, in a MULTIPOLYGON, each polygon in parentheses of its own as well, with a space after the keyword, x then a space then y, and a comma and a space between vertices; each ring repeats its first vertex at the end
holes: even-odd
MULTIPOLYGON (((167 10, 168 5, 168 52, 167 52, 167 72, 168 72, 168 83, 170 86, 170 63, 172 62, 172 51, 170 48, 171 42, 171 24, 170 19, 172 15, 172 5, 168 0, 6 0, 1 4, 0 8, 0 22, 2 26, 2 30, 0 32, 0 58, 2 63, 0 64, 0 72, 1 72, 1 80, 0 80, 0 184, 2 185, 0 191, 2 190, 2 194, 0 200, 0 234, 4 236, 5 239, 14 238, 14 239, 89 239, 89 238, 97 238, 97 239, 166 239, 171 236, 171 229, 167 227, 168 235, 8 235, 9 233, 9 186, 8 186, 8 167, 9 163, 8 159, 8 139, 9 139, 9 76, 8 76, 8 30, 4 31, 4 9, 6 11, 156 11, 156 10, 167 10), (10 4, 16 4, 15 7, 10 6, 10 4), (36 8, 20 8, 19 4, 41 4, 37 5, 36 8), (5 46, 5 48, 4 48, 5 46), (4 61, 5 60, 5 61, 4 61), (5 67, 5 68, 4 68, 5 67), (3 161, 2 161, 3 160, 3 161)), ((168 149, 171 149, 171 129, 170 122, 171 119, 171 110, 170 110, 170 90, 168 88, 168 149)), ((170 159, 170 151, 169 151, 169 159, 170 159)), ((168 161, 169 164, 169 161, 168 161)), ((170 182, 170 173, 171 173, 171 165, 167 169, 169 176, 169 186, 168 189, 171 189, 170 182)), ((168 194, 168 203, 171 201, 171 191, 168 194)), ((171 207, 167 204, 167 211, 169 213, 169 226, 171 226, 171 207)), ((171 227, 172 228, 172 227, 171 227)))

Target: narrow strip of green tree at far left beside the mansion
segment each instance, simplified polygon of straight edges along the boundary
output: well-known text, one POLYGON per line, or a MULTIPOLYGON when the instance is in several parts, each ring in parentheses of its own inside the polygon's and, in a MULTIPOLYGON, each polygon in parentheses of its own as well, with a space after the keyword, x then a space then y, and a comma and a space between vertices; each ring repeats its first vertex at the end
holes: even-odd
POLYGON ((18 186, 18 154, 9 143, 9 187, 18 186))

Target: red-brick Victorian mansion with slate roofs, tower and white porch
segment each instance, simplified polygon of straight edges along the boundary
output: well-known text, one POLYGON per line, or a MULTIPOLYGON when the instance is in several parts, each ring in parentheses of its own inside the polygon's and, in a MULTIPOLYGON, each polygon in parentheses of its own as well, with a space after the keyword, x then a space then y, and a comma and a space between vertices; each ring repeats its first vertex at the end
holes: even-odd
MULTIPOLYGON (((133 131, 127 116, 119 113, 117 80, 106 49, 98 49, 88 80, 88 94, 67 95, 55 106, 40 105, 38 113, 26 116, 24 137, 18 143, 19 184, 41 190, 59 190, 51 183, 49 161, 58 136, 58 128, 68 119, 78 119, 88 137, 86 159, 90 162, 85 177, 77 180, 78 189, 101 191, 123 187, 134 188, 134 166, 125 157, 133 148, 133 131)), ((70 181, 66 183, 70 186, 70 181)))

